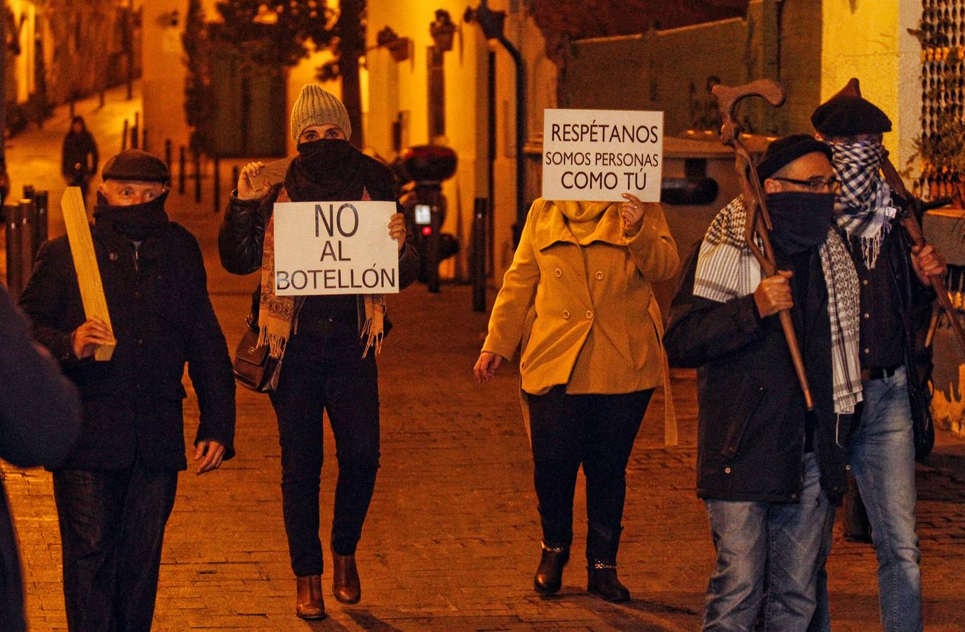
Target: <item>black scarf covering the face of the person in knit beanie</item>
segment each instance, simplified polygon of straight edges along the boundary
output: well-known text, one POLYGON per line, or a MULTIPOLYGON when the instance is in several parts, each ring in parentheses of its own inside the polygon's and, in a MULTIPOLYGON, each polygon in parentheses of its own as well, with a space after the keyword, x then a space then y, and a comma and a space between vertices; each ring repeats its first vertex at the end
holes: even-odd
POLYGON ((285 175, 293 202, 361 200, 365 159, 348 141, 322 138, 298 144, 298 156, 285 175))

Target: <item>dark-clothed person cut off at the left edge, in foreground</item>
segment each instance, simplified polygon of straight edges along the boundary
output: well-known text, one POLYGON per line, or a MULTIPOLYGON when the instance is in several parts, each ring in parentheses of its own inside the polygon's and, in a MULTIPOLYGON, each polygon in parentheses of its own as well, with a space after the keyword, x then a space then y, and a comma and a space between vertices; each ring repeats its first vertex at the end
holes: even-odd
MULTIPOLYGON (((18 467, 59 465, 80 431, 80 399, 0 286, 0 458, 18 467)), ((26 629, 14 522, 0 481, 0 628, 26 629)))

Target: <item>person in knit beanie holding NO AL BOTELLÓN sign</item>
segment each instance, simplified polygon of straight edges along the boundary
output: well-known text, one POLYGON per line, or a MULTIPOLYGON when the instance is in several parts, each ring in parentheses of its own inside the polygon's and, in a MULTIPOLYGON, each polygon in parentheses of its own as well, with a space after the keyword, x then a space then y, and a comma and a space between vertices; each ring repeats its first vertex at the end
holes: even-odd
MULTIPOLYGON (((332 588, 343 603, 361 597, 355 547, 372 500, 379 457, 375 355, 391 324, 384 317, 381 295, 276 296, 271 215, 276 202, 397 201, 392 173, 352 147, 350 136, 342 101, 317 85, 303 87, 291 108, 291 137, 298 143, 298 155, 285 181, 270 185, 261 162, 245 166, 218 235, 225 269, 234 274, 262 269, 249 323, 281 364, 270 398, 278 418, 285 531, 296 577, 295 611, 301 618, 325 617, 318 536, 324 411, 339 459, 330 540, 332 588)), ((405 288, 418 274, 419 257, 406 242, 401 213, 393 215, 387 230, 399 242, 400 288, 405 288)))

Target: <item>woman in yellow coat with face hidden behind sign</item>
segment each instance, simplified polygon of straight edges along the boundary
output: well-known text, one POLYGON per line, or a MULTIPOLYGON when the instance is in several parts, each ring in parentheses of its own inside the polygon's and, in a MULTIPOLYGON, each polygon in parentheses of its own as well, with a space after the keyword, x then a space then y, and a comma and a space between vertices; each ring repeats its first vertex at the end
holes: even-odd
POLYGON ((588 590, 608 601, 630 598, 617 577, 626 463, 663 378, 650 283, 671 278, 679 264, 660 205, 623 197, 533 204, 474 369, 487 381, 522 349, 542 524, 536 590, 562 586, 582 464, 588 590))

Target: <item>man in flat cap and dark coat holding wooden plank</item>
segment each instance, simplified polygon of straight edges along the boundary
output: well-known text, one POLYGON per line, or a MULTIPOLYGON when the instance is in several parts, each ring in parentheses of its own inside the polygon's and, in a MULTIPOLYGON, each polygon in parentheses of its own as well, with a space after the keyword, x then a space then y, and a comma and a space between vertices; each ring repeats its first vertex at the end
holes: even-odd
POLYGON ((92 227, 111 331, 87 319, 66 236, 20 306, 80 391, 80 439, 53 472, 70 630, 149 630, 164 528, 186 469, 181 374, 201 411, 197 473, 234 455, 234 377, 194 236, 164 210, 168 168, 127 150, 102 172, 92 227), (96 346, 116 341, 111 359, 96 346))

